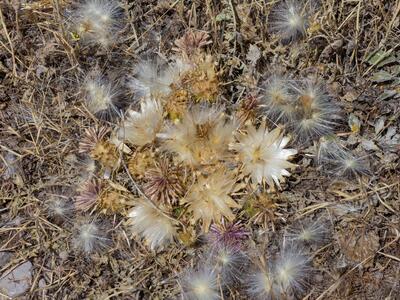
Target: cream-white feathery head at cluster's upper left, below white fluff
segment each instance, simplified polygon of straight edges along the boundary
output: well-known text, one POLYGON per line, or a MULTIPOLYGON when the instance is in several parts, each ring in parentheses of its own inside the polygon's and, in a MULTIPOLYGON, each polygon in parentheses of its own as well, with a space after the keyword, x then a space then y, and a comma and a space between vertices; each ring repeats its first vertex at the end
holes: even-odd
POLYGON ((121 140, 136 146, 144 146, 156 139, 163 125, 163 109, 157 100, 141 102, 141 111, 128 110, 127 117, 118 131, 121 140))

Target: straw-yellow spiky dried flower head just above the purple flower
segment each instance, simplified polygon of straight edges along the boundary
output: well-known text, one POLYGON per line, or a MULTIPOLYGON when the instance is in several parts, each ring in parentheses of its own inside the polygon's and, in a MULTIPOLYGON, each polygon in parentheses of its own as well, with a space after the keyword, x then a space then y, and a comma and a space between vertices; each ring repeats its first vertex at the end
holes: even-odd
POLYGON ((219 169, 208 176, 199 176, 182 203, 188 204, 195 221, 203 221, 203 230, 207 232, 212 221, 220 222, 222 217, 230 221, 235 218, 231 208, 240 208, 240 205, 230 196, 234 191, 233 174, 219 169))

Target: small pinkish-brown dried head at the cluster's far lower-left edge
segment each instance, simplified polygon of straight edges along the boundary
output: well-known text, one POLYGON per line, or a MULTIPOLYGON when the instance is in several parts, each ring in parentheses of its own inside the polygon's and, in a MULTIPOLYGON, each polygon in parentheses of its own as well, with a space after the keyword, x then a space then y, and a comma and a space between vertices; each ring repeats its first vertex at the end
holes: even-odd
POLYGON ((104 184, 96 179, 87 181, 80 189, 79 195, 75 197, 75 209, 88 211, 99 200, 104 184))

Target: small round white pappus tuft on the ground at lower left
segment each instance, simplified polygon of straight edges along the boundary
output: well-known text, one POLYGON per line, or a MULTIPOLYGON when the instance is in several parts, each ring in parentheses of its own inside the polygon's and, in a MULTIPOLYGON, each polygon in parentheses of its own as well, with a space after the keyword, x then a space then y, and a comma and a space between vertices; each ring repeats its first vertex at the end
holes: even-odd
POLYGON ((106 248, 109 242, 104 227, 96 220, 81 220, 76 223, 73 238, 76 250, 84 253, 96 252, 106 248))

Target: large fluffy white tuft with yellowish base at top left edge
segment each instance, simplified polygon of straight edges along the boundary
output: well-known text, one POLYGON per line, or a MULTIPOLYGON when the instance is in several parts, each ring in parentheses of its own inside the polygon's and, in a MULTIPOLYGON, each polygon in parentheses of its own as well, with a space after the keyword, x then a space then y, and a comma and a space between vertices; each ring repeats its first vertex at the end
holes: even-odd
POLYGON ((71 21, 77 38, 108 48, 117 41, 123 15, 118 1, 86 0, 76 6, 71 21))

